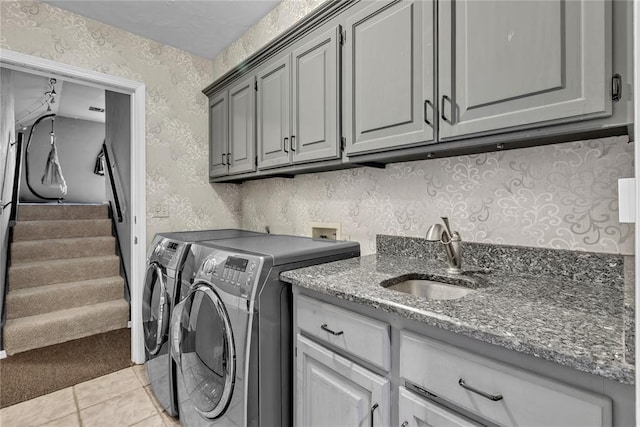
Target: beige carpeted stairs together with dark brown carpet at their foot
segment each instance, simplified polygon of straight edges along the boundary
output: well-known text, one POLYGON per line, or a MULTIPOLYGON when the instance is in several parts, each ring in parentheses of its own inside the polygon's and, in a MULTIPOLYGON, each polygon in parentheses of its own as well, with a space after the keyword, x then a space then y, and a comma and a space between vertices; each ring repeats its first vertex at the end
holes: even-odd
POLYGON ((107 205, 20 204, 0 407, 131 365, 129 304, 107 205))

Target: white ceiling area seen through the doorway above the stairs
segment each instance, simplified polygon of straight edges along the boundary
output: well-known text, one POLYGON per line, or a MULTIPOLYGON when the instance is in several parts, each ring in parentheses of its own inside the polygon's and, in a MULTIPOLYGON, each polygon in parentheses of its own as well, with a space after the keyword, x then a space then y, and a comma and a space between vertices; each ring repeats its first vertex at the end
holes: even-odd
MULTIPOLYGON (((49 104, 51 113, 104 123, 104 112, 89 110, 89 107, 104 109, 104 89, 63 82, 60 79, 56 81, 54 88, 55 102, 49 104)), ((49 77, 14 71, 13 89, 17 127, 29 126, 47 113, 49 77)))

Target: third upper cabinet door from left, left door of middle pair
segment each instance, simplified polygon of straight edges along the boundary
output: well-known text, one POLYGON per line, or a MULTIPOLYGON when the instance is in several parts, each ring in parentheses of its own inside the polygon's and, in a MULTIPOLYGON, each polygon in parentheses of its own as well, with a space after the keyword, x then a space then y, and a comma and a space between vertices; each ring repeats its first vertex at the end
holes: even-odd
POLYGON ((291 56, 258 72, 258 168, 291 160, 291 56))

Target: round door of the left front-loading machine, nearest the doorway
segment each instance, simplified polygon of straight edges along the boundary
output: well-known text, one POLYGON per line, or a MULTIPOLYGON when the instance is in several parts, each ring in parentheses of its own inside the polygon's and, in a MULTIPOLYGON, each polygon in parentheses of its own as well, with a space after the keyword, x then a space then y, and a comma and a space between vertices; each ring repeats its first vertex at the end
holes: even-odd
POLYGON ((142 295, 142 325, 144 347, 155 356, 169 335, 169 295, 166 275, 156 262, 147 266, 142 295))

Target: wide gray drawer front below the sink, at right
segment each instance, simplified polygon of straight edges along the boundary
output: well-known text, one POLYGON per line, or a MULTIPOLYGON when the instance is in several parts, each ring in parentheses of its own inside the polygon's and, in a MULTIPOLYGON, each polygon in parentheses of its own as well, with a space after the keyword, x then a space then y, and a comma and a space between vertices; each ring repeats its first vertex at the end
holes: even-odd
POLYGON ((607 397, 407 332, 400 339, 400 376, 501 425, 610 426, 612 422, 607 397))

